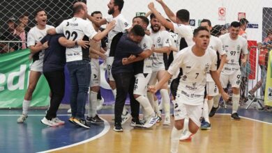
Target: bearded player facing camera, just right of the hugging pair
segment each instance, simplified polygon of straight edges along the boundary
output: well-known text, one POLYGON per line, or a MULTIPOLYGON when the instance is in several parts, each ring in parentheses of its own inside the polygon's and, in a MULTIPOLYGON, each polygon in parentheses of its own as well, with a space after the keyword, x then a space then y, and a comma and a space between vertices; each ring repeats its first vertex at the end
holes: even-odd
MULTIPOLYGON (((153 42, 153 54, 152 58, 152 75, 149 81, 149 85, 154 85, 156 81, 160 81, 162 79, 163 74, 166 72, 165 63, 164 61, 164 54, 169 54, 170 52, 170 40, 169 40, 169 33, 167 31, 160 30, 160 22, 156 19, 155 15, 151 14, 151 34, 150 37, 153 42)), ((162 96, 162 102, 165 111, 165 121, 163 124, 169 125, 170 122, 170 98, 169 93, 167 90, 167 83, 160 89, 160 95, 162 96)), ((154 102, 154 97, 151 92, 147 93, 147 97, 149 98, 149 102, 153 108, 158 108, 158 103, 154 102)), ((156 111, 157 115, 160 117, 160 111, 156 111)))

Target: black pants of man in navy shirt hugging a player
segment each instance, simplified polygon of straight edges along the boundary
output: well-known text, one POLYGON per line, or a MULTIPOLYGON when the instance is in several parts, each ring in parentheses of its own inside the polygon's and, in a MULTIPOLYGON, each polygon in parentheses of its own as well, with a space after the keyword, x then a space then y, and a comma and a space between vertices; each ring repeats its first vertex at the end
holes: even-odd
POLYGON ((130 95, 130 109, 133 118, 139 118, 139 102, 133 97, 135 77, 133 73, 112 74, 116 83, 116 99, 114 107, 115 123, 121 123, 123 106, 126 102, 126 96, 130 95))

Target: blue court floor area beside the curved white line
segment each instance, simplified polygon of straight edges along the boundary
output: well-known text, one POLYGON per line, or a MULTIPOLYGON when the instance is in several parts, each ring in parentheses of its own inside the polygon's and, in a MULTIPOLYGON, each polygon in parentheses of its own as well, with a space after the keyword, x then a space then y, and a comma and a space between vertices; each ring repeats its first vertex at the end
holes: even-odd
MULTIPOLYGON (((217 113, 231 113, 231 109, 220 108, 217 113)), ((59 127, 47 127, 40 120, 45 110, 31 110, 24 124, 17 124, 16 120, 22 110, 0 109, 0 153, 9 152, 44 152, 68 145, 77 145, 95 138, 99 138, 109 130, 109 123, 91 124, 91 129, 75 127, 68 122, 69 114, 63 109, 58 112, 59 118, 66 124, 59 127)), ((100 114, 112 115, 113 109, 99 111, 100 114)), ((259 122, 272 125, 272 113, 255 109, 239 109, 239 115, 259 122)))

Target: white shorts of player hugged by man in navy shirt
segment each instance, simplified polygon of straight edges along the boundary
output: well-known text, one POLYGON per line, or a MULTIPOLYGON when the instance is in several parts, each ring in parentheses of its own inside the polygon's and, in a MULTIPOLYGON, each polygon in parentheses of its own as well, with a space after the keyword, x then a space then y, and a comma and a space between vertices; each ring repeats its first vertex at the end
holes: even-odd
POLYGON ((151 73, 146 74, 140 73, 135 75, 135 85, 133 94, 146 96, 147 83, 149 83, 150 77, 151 73))

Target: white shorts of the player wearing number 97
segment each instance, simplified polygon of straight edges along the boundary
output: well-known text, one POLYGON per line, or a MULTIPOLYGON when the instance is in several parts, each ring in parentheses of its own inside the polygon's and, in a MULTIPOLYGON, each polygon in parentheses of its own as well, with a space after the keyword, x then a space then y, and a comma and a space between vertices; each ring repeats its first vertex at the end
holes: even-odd
POLYGON ((231 75, 226 75, 221 73, 220 81, 223 88, 227 88, 228 82, 232 85, 232 87, 239 88, 241 84, 241 71, 236 70, 236 72, 234 72, 231 75))

